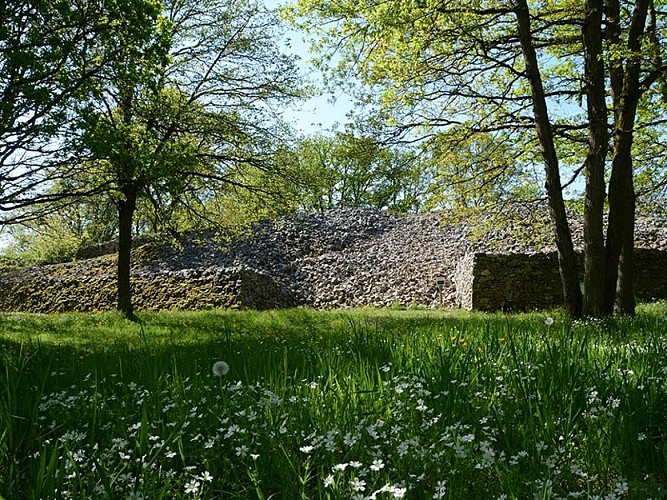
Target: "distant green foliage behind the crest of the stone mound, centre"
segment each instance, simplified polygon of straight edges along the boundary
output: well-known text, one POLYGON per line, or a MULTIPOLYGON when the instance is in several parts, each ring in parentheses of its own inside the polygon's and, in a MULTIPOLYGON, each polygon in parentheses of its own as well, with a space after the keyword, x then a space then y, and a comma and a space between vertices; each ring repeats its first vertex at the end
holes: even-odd
POLYGON ((411 212, 423 203, 427 180, 417 152, 384 144, 372 127, 303 138, 278 148, 274 161, 280 175, 250 163, 231 170, 228 186, 202 205, 209 221, 242 229, 299 210, 411 212))

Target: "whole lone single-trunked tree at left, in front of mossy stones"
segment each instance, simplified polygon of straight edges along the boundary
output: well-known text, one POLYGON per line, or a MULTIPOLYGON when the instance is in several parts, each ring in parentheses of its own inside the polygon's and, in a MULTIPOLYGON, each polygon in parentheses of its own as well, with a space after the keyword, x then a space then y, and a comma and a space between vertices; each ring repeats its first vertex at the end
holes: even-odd
POLYGON ((293 60, 272 38, 277 20, 258 4, 155 6, 140 43, 129 34, 105 41, 116 59, 78 107, 71 140, 79 183, 106 192, 118 211, 118 309, 129 318, 139 201, 173 208, 239 182, 239 165, 272 171, 271 106, 298 96, 293 60))

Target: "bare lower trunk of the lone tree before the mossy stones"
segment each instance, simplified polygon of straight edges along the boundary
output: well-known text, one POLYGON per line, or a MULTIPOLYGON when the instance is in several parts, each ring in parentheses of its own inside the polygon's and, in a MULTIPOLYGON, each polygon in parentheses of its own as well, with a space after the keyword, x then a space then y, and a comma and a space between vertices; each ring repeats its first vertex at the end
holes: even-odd
POLYGON ((132 223, 137 206, 137 189, 134 185, 123 186, 124 199, 117 202, 118 207, 118 304, 117 308, 126 318, 134 319, 132 290, 130 288, 132 223))

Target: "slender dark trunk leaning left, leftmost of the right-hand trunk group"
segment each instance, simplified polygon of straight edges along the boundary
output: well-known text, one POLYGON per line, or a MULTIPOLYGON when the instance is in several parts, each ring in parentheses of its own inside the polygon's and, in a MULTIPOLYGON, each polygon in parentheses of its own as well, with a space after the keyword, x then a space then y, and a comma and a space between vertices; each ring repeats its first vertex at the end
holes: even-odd
POLYGON ((535 130, 540 141, 545 169, 545 187, 549 202, 549 214, 558 249, 558 265, 563 284, 565 308, 573 318, 579 318, 582 312, 582 295, 579 287, 577 259, 572 244, 572 235, 565 211, 563 188, 560 181, 558 155, 553 140, 551 122, 544 95, 542 75, 533 47, 533 36, 530 27, 530 11, 526 0, 517 0, 515 6, 519 41, 526 64, 526 76, 530 83, 535 130))

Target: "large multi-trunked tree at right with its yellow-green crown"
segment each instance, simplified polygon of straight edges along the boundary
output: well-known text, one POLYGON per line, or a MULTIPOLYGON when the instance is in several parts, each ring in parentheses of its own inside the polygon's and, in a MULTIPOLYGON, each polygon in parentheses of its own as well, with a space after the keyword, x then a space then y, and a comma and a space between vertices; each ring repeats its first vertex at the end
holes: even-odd
MULTIPOLYGON (((537 142, 566 307, 578 317, 610 312, 617 285, 621 310, 634 312, 630 151, 637 106, 665 76, 664 16, 656 5, 649 0, 634 6, 615 0, 584 5, 567 0, 465 5, 300 0, 295 9, 309 27, 322 27, 325 46, 339 51, 337 71, 352 69, 380 89, 381 102, 398 110, 396 122, 404 130, 414 135, 453 128, 464 128, 469 136, 502 132, 527 151, 535 151, 537 142), (647 17, 650 9, 653 14, 647 17), (611 88, 605 87, 607 81, 611 88), (605 242, 607 151, 611 177, 605 242), (563 201, 562 158, 574 174, 586 176, 585 298, 563 201)), ((644 105, 656 109, 646 100, 644 105)))

